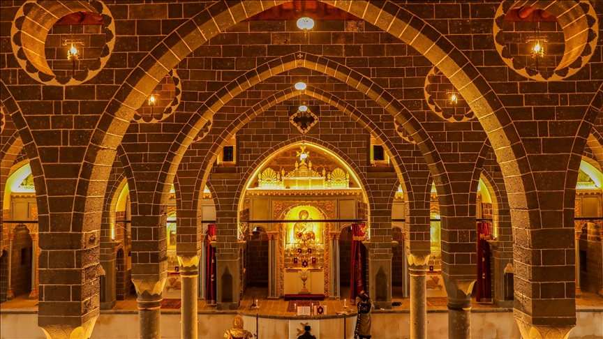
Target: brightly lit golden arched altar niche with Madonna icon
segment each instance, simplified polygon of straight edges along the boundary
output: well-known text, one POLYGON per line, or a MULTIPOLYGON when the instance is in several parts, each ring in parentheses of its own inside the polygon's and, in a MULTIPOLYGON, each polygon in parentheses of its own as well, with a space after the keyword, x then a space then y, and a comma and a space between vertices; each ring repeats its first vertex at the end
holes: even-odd
MULTIPOLYGON (((352 234, 348 241, 338 235, 345 224, 365 227, 362 220, 367 218, 366 193, 355 172, 336 153, 310 142, 278 149, 252 168, 255 171, 239 200, 239 225, 243 226, 239 236, 246 238, 251 231, 253 239, 261 229, 257 236, 262 241, 263 231, 267 234, 268 296, 349 298, 350 267, 344 268, 347 294, 338 288, 342 285, 339 246, 345 242, 343 250, 348 250, 352 234), (359 218, 361 214, 364 219, 359 218)), ((364 231, 368 234, 368 229, 364 231)), ((364 245, 360 247, 364 253, 364 245)), ((241 283, 255 287, 255 281, 251 283, 255 254, 247 250, 244 255, 247 277, 241 283)), ((366 255, 362 260, 366 271, 366 255)))

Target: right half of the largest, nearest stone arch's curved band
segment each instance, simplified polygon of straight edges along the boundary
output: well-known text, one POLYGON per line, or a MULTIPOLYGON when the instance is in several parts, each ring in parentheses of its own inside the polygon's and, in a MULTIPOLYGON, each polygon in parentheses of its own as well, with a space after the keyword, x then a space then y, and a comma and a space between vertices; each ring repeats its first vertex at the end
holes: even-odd
MULTIPOLYGON (((475 66, 448 38, 422 18, 392 1, 320 1, 345 10, 391 33, 429 59, 467 100, 482 123, 496 156, 505 164, 501 166, 505 180, 509 180, 509 184, 513 181, 512 185, 509 185, 513 193, 523 195, 535 189, 534 178, 529 174, 531 171, 526 149, 507 110, 475 66)), ((519 198, 510 201, 521 209, 538 207, 537 199, 519 198)))

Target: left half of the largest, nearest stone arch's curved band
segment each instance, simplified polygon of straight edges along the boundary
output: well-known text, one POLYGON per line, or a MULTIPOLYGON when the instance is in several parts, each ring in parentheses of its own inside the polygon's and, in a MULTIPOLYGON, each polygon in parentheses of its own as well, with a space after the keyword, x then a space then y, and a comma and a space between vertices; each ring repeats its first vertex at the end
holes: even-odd
MULTIPOLYGON (((117 146, 121 143, 135 110, 144 103, 144 100, 147 100, 158 82, 188 54, 228 27, 285 2, 285 0, 216 1, 163 38, 146 57, 142 58, 107 104, 84 155, 82 172, 95 172, 98 174, 99 181, 108 177, 110 162, 116 155, 117 146), (101 165, 100 169, 93 170, 97 165, 101 165)), ((175 169, 170 173, 175 173, 175 169)), ((168 180, 169 182, 173 180, 173 174, 170 174, 168 180)), ((168 181, 160 179, 158 185, 163 185, 164 182, 168 181)), ((89 180, 78 182, 78 191, 86 192, 94 189, 87 188, 88 184, 89 180)))

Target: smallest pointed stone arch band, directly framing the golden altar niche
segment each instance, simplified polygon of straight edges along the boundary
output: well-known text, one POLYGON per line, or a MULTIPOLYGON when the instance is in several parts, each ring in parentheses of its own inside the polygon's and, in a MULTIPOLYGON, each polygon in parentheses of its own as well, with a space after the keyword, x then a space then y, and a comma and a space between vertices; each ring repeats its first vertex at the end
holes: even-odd
MULTIPOLYGON (((387 151, 392 155, 392 161, 394 162, 394 168, 396 169, 396 172, 399 176, 399 181, 403 185, 405 193, 408 192, 408 195, 410 195, 412 200, 412 185, 410 184, 408 169, 406 169, 405 164, 403 163, 402 159, 400 158, 399 154, 395 149, 395 146, 389 140, 387 135, 385 135, 385 133, 383 133, 383 131, 378 128, 378 126, 376 126, 375 123, 373 123, 373 121, 368 118, 368 116, 357 110, 352 105, 345 102, 345 100, 338 98, 337 96, 334 96, 331 93, 322 91, 321 89, 317 89, 313 86, 307 86, 306 90, 304 91, 304 94, 316 98, 318 100, 322 100, 323 102, 338 108, 339 110, 341 110, 341 112, 350 115, 352 119, 355 119, 362 127, 366 128, 366 130, 368 130, 368 132, 371 133, 373 137, 378 138, 380 142, 384 142, 387 151)), ((272 96, 269 96, 268 98, 265 98, 264 100, 260 101, 260 103, 253 105, 253 107, 250 107, 248 110, 246 110, 246 112, 241 114, 241 116, 239 116, 237 120, 232 121, 232 123, 230 123, 230 125, 223 130, 221 135, 218 137, 217 142, 213 144, 210 151, 207 153, 208 155, 204 158, 200 172, 197 176, 197 181, 195 182, 194 197, 197 198, 198 196, 200 196, 200 192, 204 188, 204 183, 207 182, 209 170, 212 166, 211 164, 213 164, 216 160, 218 151, 225 144, 225 142, 227 142, 230 137, 232 137, 237 132, 237 130, 245 126, 246 123, 255 118, 255 116, 258 116, 259 114, 265 112, 265 110, 268 110, 270 107, 281 103, 284 100, 295 98, 295 96, 299 95, 300 92, 296 89, 293 89, 292 87, 280 91, 278 93, 274 93, 272 96)), ((198 206, 199 203, 199 200, 197 202, 193 202, 193 206, 198 206)))

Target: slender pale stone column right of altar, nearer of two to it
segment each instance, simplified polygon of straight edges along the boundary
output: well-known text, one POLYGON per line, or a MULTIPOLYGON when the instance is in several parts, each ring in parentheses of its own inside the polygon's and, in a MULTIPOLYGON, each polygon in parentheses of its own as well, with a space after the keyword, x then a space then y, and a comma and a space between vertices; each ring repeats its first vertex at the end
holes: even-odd
POLYGON ((430 255, 408 255, 410 272, 410 338, 427 338, 427 264, 430 255))

